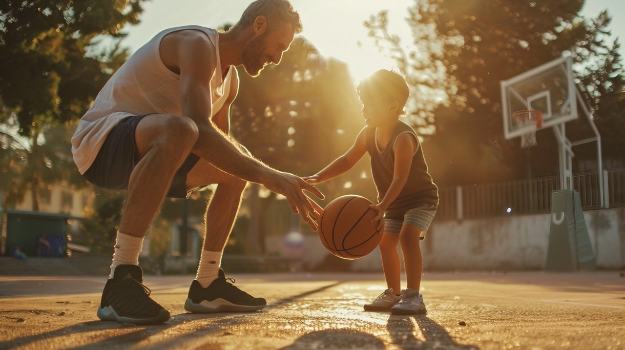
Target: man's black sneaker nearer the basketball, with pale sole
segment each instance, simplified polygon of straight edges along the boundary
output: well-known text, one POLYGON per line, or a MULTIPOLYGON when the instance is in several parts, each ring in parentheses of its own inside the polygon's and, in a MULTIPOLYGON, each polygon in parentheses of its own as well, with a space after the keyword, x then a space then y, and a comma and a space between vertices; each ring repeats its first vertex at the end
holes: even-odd
POLYGON ((190 312, 229 312, 257 311, 267 305, 262 297, 253 297, 235 287, 234 278, 226 278, 219 269, 219 276, 208 287, 202 288, 194 280, 189 288, 189 298, 184 302, 184 309, 190 312), (229 282, 231 281, 231 282, 229 282))

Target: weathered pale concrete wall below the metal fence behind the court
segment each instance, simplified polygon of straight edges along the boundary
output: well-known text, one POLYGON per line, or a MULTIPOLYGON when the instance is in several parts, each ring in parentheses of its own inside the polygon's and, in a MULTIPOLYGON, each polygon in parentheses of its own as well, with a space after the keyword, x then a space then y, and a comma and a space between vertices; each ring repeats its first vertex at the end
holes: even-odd
MULTIPOLYGON (((549 216, 435 221, 421 242, 426 269, 542 269, 547 259, 549 216)), ((597 266, 625 267, 625 207, 586 211, 584 218, 597 266)), ((306 266, 319 266, 329 253, 316 235, 305 237, 300 258, 306 266)), ((281 256, 288 253, 279 236, 267 239, 267 249, 281 256)), ((349 264, 352 271, 382 270, 377 249, 349 264)))

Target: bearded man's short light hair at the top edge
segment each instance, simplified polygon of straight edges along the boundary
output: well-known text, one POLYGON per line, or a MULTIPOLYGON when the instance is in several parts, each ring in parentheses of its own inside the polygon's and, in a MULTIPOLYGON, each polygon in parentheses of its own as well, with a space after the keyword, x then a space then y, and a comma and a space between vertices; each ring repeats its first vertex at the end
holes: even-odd
POLYGON ((296 33, 302 32, 299 13, 294 11, 288 0, 256 0, 247 6, 235 26, 251 26, 258 16, 265 16, 268 31, 272 31, 280 24, 291 23, 296 33))

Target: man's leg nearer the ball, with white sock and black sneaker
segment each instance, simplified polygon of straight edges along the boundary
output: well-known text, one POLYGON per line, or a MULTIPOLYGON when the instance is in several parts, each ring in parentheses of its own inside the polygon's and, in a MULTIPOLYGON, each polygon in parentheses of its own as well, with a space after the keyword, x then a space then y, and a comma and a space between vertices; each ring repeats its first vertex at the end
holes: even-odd
POLYGON ((196 280, 184 304, 191 312, 256 311, 265 299, 252 297, 228 282, 220 269, 221 257, 241 206, 246 181, 214 168, 204 159, 187 174, 187 188, 217 184, 206 210, 206 236, 196 280))

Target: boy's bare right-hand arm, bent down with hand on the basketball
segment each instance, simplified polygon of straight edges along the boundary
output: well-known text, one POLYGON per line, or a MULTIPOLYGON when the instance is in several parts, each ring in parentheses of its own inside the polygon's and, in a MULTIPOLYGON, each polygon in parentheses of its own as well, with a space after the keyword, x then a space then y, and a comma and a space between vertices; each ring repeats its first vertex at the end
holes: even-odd
POLYGON ((392 173, 392 181, 389 189, 384 194, 384 198, 377 204, 371 207, 376 209, 377 216, 374 217, 371 222, 379 221, 378 228, 382 227, 384 212, 387 207, 399 196, 401 190, 404 189, 408 176, 410 174, 410 168, 412 166, 412 155, 417 150, 419 145, 414 139, 412 134, 402 134, 397 139, 395 144, 395 166, 392 173))

